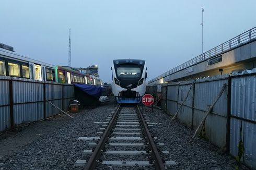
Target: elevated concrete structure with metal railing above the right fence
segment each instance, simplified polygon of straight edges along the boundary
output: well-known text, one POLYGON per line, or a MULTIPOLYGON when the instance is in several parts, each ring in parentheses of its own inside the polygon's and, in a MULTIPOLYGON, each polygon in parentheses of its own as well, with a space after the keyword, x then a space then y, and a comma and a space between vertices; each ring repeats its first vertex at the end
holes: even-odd
POLYGON ((148 81, 149 85, 193 80, 256 67, 256 27, 148 81))

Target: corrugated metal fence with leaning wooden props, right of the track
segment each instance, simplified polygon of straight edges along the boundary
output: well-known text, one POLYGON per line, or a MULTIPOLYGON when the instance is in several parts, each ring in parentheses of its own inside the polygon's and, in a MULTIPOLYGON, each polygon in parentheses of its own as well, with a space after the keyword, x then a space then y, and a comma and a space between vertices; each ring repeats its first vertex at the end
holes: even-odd
MULTIPOLYGON (((195 130, 224 83, 227 87, 207 117, 200 135, 219 148, 226 147, 233 156, 238 155, 241 137, 245 147, 241 160, 256 169, 255 74, 232 77, 223 75, 162 85, 160 106, 167 113, 176 113, 191 87, 187 100, 178 112, 178 119, 195 130)), ((147 92, 152 93, 156 87, 148 86, 147 92)))

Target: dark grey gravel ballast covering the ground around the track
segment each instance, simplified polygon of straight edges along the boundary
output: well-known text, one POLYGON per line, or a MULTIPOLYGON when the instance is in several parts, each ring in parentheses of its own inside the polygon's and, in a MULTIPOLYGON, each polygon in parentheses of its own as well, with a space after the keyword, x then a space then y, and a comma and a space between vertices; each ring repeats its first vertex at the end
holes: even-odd
MULTIPOLYGON (((114 108, 116 107, 111 102, 104 103, 94 109, 86 108, 79 113, 71 113, 74 119, 61 114, 19 128, 15 132, 3 133, 0 136, 0 169, 82 169, 74 166, 74 163, 90 157, 90 154, 85 155, 83 151, 94 148, 88 143, 95 141, 77 139, 101 136, 97 132, 101 131, 102 124, 94 122, 105 122, 114 108)), ((235 169, 235 159, 228 154, 220 154, 219 149, 210 142, 196 138, 193 143, 189 143, 194 131, 181 125, 178 120, 170 122, 171 116, 157 109, 154 113, 147 112, 147 115, 150 122, 161 123, 150 126, 149 130, 157 137, 156 142, 165 143, 159 149, 170 152, 163 157, 166 161, 175 161, 177 164, 167 169, 235 169)), ((124 148, 121 146, 120 150, 124 148)), ((139 148, 135 147, 134 150, 139 148)), ((103 168, 120 169, 110 166, 103 168)), ((241 169, 247 168, 242 166, 241 169)))

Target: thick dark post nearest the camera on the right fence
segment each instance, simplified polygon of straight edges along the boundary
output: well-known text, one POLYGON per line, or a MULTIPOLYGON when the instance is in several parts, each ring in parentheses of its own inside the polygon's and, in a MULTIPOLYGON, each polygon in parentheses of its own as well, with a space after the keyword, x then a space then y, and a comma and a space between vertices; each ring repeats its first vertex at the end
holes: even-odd
POLYGON ((231 117, 231 82, 232 79, 228 77, 228 93, 227 93, 227 126, 226 126, 226 151, 229 151, 230 145, 230 117, 231 117))

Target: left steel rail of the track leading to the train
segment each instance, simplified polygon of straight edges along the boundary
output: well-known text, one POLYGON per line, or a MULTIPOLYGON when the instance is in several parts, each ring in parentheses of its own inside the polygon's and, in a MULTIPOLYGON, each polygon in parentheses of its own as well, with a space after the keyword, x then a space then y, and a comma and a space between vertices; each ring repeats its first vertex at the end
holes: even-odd
POLYGON ((115 111, 112 119, 109 122, 108 127, 106 128, 106 130, 104 131, 102 137, 100 138, 99 143, 97 144, 94 152, 92 153, 88 163, 86 164, 86 166, 84 167, 84 170, 92 170, 95 169, 96 165, 98 164, 97 160, 100 158, 101 156, 101 150, 105 147, 105 142, 108 141, 108 136, 109 136, 109 132, 112 129, 112 126, 114 124, 115 119, 117 118, 118 112, 120 109, 120 105, 118 106, 117 110, 115 111))

